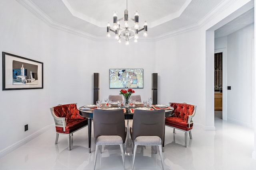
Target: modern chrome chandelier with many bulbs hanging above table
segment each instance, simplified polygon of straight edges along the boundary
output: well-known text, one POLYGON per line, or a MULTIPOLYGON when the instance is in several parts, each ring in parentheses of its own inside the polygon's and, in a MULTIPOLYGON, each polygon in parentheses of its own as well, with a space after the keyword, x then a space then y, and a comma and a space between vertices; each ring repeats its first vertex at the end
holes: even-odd
POLYGON ((134 42, 138 42, 138 33, 144 30, 143 36, 148 36, 148 23, 144 21, 144 27, 139 26, 139 12, 134 12, 134 19, 128 17, 127 10, 127 0, 126 0, 126 10, 124 10, 124 17, 117 19, 117 12, 113 12, 113 28, 110 28, 110 23, 107 23, 107 37, 110 37, 110 31, 115 33, 115 39, 118 43, 121 43, 121 39, 125 39, 125 44, 129 45, 129 39, 134 38, 134 42), (124 20, 124 27, 120 26, 120 21, 124 20), (129 27, 128 20, 134 21, 134 26, 129 27), (132 34, 133 33, 133 34, 132 34))

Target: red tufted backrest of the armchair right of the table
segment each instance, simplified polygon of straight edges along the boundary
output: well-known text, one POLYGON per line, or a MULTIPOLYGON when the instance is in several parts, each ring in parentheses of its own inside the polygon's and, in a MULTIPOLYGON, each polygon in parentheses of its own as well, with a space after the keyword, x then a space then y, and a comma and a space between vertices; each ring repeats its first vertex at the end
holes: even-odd
POLYGON ((179 117, 188 122, 188 116, 192 115, 196 109, 194 105, 182 104, 182 103, 170 103, 170 106, 174 108, 173 117, 179 117))

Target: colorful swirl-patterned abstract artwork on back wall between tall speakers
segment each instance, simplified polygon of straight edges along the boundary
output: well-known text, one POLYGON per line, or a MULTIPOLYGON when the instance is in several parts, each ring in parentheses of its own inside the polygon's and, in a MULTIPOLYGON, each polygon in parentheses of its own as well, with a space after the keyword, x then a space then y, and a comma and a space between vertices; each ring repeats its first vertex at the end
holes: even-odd
POLYGON ((109 88, 143 88, 143 69, 109 69, 109 88))

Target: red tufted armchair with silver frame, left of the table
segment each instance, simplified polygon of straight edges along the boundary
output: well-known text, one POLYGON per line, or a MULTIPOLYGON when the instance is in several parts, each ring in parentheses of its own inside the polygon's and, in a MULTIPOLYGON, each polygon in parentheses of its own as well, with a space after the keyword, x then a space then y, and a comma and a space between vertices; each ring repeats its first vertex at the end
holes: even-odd
POLYGON ((68 150, 71 150, 73 133, 88 125, 87 118, 79 115, 76 104, 64 104, 50 107, 52 117, 56 127, 56 140, 58 142, 59 134, 68 135, 68 150))

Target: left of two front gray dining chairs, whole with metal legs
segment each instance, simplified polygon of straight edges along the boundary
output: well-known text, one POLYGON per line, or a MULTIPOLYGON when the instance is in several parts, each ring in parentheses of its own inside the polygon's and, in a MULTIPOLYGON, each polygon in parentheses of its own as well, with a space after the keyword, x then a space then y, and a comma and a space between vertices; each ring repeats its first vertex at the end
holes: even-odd
MULTIPOLYGON (((96 166, 98 146, 102 145, 120 145, 122 159, 124 164, 124 143, 126 139, 126 127, 124 123, 124 110, 93 110, 93 128, 96 143, 94 170, 96 166)), ((125 170, 125 164, 124 164, 125 170)))

